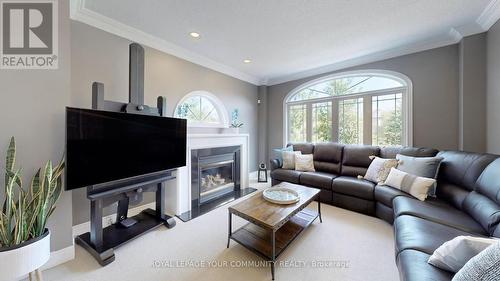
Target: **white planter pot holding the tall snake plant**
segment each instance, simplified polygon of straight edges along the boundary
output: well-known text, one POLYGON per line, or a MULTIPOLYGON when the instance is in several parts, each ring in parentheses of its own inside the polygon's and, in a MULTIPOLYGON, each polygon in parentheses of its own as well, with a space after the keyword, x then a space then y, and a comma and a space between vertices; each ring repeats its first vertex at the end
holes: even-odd
POLYGON ((50 232, 9 248, 0 248, 0 281, 19 280, 50 258, 50 232))

